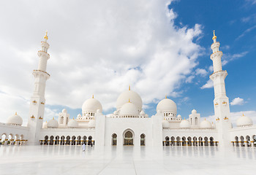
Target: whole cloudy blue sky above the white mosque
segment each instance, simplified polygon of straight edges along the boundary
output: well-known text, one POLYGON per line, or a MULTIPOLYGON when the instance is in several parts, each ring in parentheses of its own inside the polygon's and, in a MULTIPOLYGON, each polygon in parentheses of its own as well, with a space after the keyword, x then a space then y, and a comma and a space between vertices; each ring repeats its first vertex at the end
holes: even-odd
POLYGON ((26 125, 40 42, 48 30, 50 59, 45 117, 81 113, 86 99, 103 114, 124 90, 139 93, 156 113, 172 99, 178 114, 196 109, 214 121, 211 44, 223 52, 231 121, 256 123, 256 1, 2 1, 0 6, 0 122, 15 112, 26 125))

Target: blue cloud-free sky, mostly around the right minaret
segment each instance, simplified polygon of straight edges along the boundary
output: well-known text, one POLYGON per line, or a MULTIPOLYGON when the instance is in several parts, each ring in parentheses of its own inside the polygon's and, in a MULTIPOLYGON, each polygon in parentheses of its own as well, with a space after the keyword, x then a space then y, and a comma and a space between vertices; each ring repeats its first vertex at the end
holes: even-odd
MULTIPOLYGON (((230 102, 234 98, 243 98, 244 103, 230 106, 230 111, 241 112, 256 109, 256 3, 255 1, 174 1, 169 5, 176 13, 174 23, 178 27, 192 28, 196 23, 202 26, 203 34, 193 42, 202 47, 195 69, 205 69, 207 74, 195 78, 190 83, 181 82, 176 90, 182 91, 178 97, 168 96, 178 106, 178 114, 188 117, 192 109, 197 109, 203 117, 214 114, 214 89, 201 87, 212 73, 210 59, 212 31, 221 43, 223 60, 228 63, 222 68, 227 70, 227 96, 230 102)), ((195 71, 195 70, 194 70, 195 71)), ((67 107, 67 106, 66 106, 67 107)), ((157 104, 151 103, 146 112, 155 114, 157 104)), ((72 110, 72 109, 71 109, 72 110)), ((110 109, 105 113, 113 112, 110 109)), ((80 112, 75 109, 74 114, 80 112)))

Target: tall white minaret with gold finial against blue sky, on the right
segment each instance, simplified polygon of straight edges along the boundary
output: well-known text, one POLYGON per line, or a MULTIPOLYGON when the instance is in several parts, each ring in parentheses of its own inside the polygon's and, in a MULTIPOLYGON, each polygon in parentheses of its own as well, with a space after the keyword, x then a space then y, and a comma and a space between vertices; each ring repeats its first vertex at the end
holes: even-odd
POLYGON ((217 36, 212 37, 214 43, 211 44, 211 60, 214 64, 214 73, 210 75, 214 82, 214 113, 217 120, 217 130, 219 133, 219 145, 227 146, 230 144, 228 129, 230 128, 230 103, 226 96, 225 78, 227 71, 222 70, 222 51, 219 51, 219 42, 217 36))

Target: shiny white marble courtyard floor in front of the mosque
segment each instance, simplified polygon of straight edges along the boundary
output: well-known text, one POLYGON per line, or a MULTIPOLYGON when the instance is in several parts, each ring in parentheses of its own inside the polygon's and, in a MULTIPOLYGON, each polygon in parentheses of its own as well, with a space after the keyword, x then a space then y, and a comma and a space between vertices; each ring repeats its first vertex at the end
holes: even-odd
POLYGON ((0 174, 256 174, 256 148, 1 145, 0 174))

